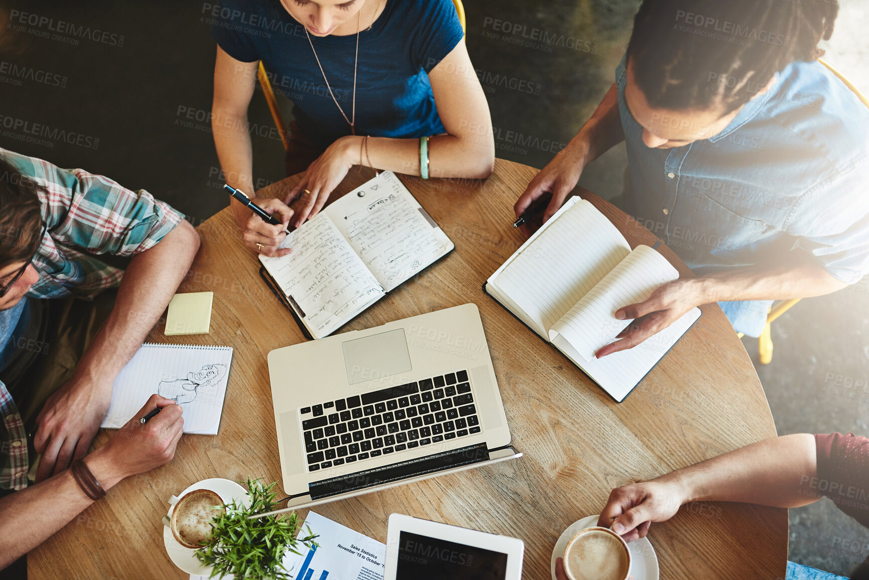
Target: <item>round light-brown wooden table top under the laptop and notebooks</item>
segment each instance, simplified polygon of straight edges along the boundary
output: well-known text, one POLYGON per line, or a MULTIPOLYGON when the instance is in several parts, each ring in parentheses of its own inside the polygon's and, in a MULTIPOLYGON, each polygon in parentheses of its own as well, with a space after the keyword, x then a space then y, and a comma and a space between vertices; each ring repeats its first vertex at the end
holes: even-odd
MULTIPOLYGON (((497 160, 485 181, 402 176, 455 250, 343 329, 477 303, 513 444, 525 456, 315 510, 380 541, 395 511, 519 537, 526 546, 524 577, 546 580, 561 531, 580 517, 600 513, 614 487, 776 432, 751 360, 715 304, 703 307, 699 322, 623 403, 614 403, 558 350, 482 293, 481 284, 523 242, 511 227, 513 203, 536 172, 497 160)), ((370 170, 353 169, 338 192, 370 177, 370 170)), ((298 178, 268 190, 274 196, 298 178)), ((632 247, 656 241, 612 204, 585 190, 580 195, 606 214, 632 247)), ((229 209, 197 230, 202 248, 179 291, 214 292, 210 334, 164 337, 158 323, 149 342, 234 348, 220 432, 183 436, 172 463, 119 483, 105 500, 30 552, 30 578, 186 578, 163 549, 160 518, 169 496, 208 477, 281 481, 266 356, 304 338, 260 279, 259 263, 242 244, 229 209)), ((671 250, 662 245, 659 251, 683 276, 692 276, 671 250)), ((96 445, 110 434, 101 431, 96 445)), ((653 524, 649 539, 662 579, 785 576, 786 510, 689 504, 670 521, 653 524)))

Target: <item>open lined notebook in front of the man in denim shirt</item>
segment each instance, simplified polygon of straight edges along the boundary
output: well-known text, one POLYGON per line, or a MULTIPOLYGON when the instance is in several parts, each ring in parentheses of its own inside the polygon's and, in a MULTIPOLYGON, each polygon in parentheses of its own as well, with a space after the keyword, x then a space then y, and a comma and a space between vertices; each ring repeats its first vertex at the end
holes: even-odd
POLYGON ((700 317, 694 308, 633 349, 600 359, 629 320, 616 310, 679 272, 649 246, 633 251, 592 203, 572 197, 488 278, 486 292, 621 402, 700 317))

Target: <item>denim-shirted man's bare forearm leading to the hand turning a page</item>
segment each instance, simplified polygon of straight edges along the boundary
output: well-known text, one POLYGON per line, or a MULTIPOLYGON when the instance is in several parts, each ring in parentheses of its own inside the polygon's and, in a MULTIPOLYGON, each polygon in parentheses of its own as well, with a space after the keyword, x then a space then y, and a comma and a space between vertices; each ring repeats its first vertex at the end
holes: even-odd
POLYGON ((846 287, 817 263, 753 266, 693 279, 700 303, 730 300, 786 300, 822 296, 846 287))

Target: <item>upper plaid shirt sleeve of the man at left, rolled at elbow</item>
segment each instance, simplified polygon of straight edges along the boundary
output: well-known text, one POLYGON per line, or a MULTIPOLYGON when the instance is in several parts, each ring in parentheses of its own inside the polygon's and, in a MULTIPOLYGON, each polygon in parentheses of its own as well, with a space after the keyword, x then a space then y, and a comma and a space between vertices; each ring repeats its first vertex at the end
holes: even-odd
POLYGON ((49 232, 34 259, 40 279, 30 297, 92 297, 117 286, 123 272, 93 255, 136 256, 154 247, 183 219, 148 191, 128 190, 108 177, 63 170, 8 150, 0 150, 0 155, 47 191, 39 195, 49 232))

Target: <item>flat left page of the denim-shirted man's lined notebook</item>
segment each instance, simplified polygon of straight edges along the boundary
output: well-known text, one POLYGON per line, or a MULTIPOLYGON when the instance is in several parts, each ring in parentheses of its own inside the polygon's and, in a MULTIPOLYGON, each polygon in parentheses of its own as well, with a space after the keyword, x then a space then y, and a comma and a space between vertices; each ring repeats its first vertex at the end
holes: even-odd
POLYGON ((592 203, 571 198, 488 283, 546 340, 567 310, 631 251, 592 203))

